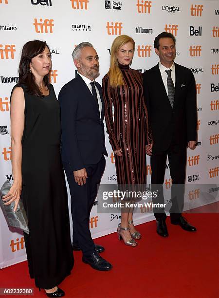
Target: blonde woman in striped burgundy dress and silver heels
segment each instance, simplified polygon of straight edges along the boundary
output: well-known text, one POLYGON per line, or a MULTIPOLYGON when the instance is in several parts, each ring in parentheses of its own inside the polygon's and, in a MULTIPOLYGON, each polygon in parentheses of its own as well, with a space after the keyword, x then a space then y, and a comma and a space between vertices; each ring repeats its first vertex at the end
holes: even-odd
MULTIPOLYGON (((121 187, 146 184, 146 152, 150 155, 152 148, 142 74, 129 67, 134 50, 135 42, 131 37, 116 37, 111 46, 110 70, 103 78, 107 133, 121 187)), ((133 208, 121 211, 118 237, 126 245, 136 246, 135 240, 141 239, 141 234, 133 224, 133 208)))

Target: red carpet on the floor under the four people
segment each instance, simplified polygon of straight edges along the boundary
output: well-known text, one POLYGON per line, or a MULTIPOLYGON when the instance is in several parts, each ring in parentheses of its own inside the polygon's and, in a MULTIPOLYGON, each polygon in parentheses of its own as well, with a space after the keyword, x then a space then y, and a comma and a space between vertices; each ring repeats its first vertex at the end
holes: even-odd
MULTIPOLYGON (((153 221, 138 226, 143 239, 137 247, 125 246, 115 233, 96 239, 106 248, 102 257, 113 265, 109 272, 92 269, 81 261, 81 252, 75 252, 72 274, 60 284, 66 297, 219 297, 219 214, 186 214, 186 218, 197 232, 170 224, 168 217, 168 238, 156 234, 153 221)), ((29 278, 27 262, 0 270, 0 287, 33 287, 34 297, 46 297, 29 278)))

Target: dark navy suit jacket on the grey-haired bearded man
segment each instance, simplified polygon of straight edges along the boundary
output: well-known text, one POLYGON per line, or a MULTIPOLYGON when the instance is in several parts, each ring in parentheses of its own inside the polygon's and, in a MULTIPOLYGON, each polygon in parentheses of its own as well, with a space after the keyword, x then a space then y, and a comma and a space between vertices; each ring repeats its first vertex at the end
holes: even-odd
POLYGON ((102 112, 80 75, 62 87, 58 100, 61 108, 62 161, 72 171, 97 164, 107 156, 104 135, 102 88, 95 82, 102 101, 102 112))

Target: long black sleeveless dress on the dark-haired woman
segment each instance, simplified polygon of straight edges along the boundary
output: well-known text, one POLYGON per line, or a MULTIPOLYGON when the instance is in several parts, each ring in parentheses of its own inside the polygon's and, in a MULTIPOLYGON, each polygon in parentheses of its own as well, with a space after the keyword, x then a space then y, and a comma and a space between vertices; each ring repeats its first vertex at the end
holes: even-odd
POLYGON ((73 268, 59 104, 52 85, 42 98, 15 87, 25 97, 21 200, 30 230, 24 233, 29 272, 37 287, 51 289, 73 268))

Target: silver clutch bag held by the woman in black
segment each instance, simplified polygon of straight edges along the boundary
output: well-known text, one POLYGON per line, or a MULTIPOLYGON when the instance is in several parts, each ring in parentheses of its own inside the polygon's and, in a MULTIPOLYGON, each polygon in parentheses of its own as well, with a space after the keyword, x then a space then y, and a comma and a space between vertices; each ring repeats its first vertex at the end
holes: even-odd
POLYGON ((0 207, 3 211, 4 217, 8 223, 8 226, 21 229, 25 233, 29 234, 28 220, 22 201, 19 200, 18 208, 15 212, 13 212, 15 206, 14 201, 10 205, 4 205, 6 201, 2 201, 2 197, 9 192, 10 188, 10 181, 6 180, 0 189, 0 207))

